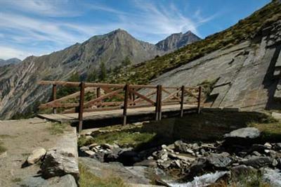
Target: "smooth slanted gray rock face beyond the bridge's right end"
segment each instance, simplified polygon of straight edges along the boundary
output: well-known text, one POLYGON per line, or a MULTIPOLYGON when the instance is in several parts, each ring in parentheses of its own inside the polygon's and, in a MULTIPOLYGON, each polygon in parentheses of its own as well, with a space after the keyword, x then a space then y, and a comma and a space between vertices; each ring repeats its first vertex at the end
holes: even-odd
POLYGON ((151 84, 214 82, 205 105, 242 110, 281 109, 281 21, 254 39, 219 49, 153 79, 151 84))

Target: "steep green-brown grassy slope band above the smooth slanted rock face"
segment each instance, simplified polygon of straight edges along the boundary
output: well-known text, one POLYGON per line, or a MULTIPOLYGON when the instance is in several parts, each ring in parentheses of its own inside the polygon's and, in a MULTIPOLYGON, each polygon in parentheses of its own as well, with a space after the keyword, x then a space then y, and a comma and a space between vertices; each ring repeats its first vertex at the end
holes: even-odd
POLYGON ((275 0, 227 30, 185 46, 174 53, 120 70, 118 74, 110 75, 106 82, 148 84, 151 79, 164 72, 189 63, 207 53, 251 39, 261 27, 280 19, 281 5, 275 0))

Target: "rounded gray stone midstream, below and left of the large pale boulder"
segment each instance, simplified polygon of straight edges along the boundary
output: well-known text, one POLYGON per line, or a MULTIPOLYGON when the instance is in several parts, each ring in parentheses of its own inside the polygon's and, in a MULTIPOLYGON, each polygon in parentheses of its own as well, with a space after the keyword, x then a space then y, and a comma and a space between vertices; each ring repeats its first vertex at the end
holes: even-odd
POLYGON ((215 167, 227 167, 232 162, 231 158, 225 154, 211 153, 207 158, 209 164, 215 167))

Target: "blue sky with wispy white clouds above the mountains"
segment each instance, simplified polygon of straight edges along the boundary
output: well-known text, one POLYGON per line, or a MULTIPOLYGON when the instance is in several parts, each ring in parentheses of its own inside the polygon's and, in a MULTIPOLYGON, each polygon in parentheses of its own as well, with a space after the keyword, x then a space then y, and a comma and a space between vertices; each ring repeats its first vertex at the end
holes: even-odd
POLYGON ((0 0, 0 58, 40 56, 121 28, 152 44, 191 30, 207 37, 270 0, 0 0))

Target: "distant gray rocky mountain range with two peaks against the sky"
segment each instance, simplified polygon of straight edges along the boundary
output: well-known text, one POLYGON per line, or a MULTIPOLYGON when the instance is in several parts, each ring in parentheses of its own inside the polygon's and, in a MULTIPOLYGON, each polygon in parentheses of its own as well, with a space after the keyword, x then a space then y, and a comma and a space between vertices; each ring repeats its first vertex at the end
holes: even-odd
POLYGON ((133 64, 141 63, 198 40, 187 32, 172 34, 155 45, 119 29, 49 55, 30 56, 13 67, 0 67, 0 118, 27 112, 36 101, 46 101, 49 88, 37 85, 39 80, 67 80, 74 72, 86 77, 100 63, 107 69, 121 65, 126 58, 133 64))

